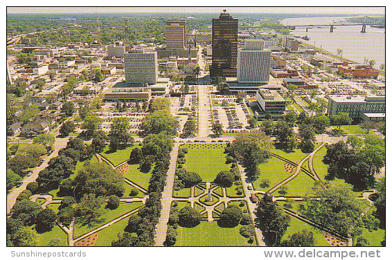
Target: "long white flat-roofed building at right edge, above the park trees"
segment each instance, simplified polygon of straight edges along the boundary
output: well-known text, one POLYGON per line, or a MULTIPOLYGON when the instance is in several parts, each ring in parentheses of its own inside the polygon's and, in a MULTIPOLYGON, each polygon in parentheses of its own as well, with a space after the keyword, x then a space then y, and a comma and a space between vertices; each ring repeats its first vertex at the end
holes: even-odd
POLYGON ((385 96, 338 97, 328 99, 328 115, 348 113, 350 118, 363 118, 364 113, 385 113, 385 96))

